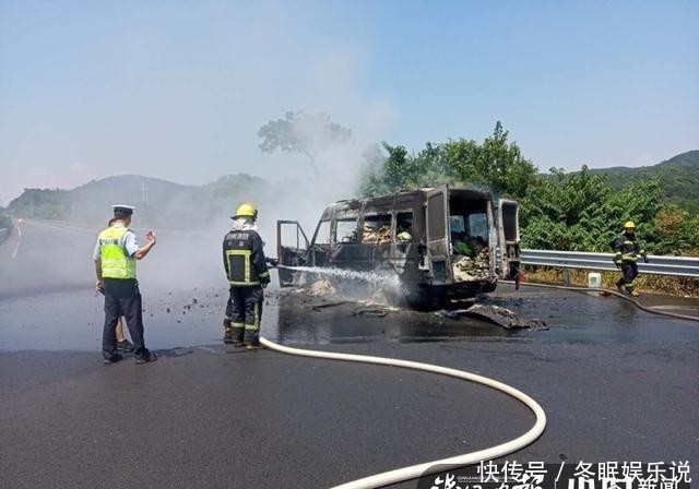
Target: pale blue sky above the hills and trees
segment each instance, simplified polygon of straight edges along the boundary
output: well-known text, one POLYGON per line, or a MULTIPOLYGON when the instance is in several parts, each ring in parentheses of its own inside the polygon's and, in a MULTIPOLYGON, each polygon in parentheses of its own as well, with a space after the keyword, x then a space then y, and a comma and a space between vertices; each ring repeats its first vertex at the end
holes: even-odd
POLYGON ((301 108, 358 146, 501 120, 541 170, 654 164, 699 148, 699 2, 0 2, 4 204, 115 174, 298 174, 256 133, 301 108))

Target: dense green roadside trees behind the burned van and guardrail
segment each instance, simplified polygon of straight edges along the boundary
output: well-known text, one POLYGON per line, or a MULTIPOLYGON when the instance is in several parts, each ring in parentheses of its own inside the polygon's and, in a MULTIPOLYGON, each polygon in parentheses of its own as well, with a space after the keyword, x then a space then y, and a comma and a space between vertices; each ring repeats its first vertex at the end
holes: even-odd
POLYGON ((479 184, 518 199, 522 247, 543 250, 612 251, 627 220, 633 220, 651 253, 699 253, 699 218, 671 205, 662 176, 628 179, 590 170, 537 175, 500 122, 482 144, 460 139, 427 143, 417 154, 382 143, 365 152, 365 196, 451 183, 479 184))

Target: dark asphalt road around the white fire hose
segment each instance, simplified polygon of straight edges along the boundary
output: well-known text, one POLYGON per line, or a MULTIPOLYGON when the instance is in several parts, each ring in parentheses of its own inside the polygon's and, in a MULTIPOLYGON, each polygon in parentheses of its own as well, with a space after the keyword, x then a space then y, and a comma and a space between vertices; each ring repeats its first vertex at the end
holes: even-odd
MULTIPOLYGON (((516 401, 451 379, 218 345, 218 237, 158 235, 139 273, 146 341, 162 359, 105 367, 95 234, 25 223, 14 260, 16 235, 0 246, 0 487, 321 488, 483 449, 533 422, 516 401), (66 254, 43 259, 46 240, 66 254), (168 254, 180 266, 166 266, 168 254)), ((524 391, 548 426, 510 461, 697 462, 699 323, 585 294, 500 287, 488 300, 548 329, 315 310, 305 296, 272 293, 262 331, 524 391)))

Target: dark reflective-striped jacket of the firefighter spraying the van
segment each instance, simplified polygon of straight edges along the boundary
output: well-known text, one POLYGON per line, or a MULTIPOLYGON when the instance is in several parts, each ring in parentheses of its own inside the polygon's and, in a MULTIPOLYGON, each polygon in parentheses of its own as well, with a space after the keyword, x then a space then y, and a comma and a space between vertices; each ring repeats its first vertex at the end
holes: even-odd
POLYGON ((235 287, 269 284, 262 238, 254 225, 236 219, 233 229, 223 241, 223 264, 228 282, 235 287))

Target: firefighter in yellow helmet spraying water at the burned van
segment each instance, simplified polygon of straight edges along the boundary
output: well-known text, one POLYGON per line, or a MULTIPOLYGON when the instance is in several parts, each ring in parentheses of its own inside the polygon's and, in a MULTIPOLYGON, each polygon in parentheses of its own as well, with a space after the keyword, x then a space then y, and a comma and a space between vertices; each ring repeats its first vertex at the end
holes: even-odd
POLYGON ((224 343, 260 348, 263 289, 270 283, 262 238, 257 231, 257 208, 240 204, 233 228, 223 241, 223 264, 230 284, 224 315, 224 343))

